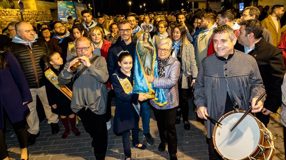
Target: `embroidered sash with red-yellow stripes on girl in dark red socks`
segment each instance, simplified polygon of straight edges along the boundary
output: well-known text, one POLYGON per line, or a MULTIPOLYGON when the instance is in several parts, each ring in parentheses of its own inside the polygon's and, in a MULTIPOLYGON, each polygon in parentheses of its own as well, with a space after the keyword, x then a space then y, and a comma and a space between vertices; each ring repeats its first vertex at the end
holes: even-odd
POLYGON ((45 71, 45 76, 57 89, 67 96, 67 98, 72 100, 72 91, 69 90, 65 85, 59 85, 57 82, 57 75, 51 69, 45 71))

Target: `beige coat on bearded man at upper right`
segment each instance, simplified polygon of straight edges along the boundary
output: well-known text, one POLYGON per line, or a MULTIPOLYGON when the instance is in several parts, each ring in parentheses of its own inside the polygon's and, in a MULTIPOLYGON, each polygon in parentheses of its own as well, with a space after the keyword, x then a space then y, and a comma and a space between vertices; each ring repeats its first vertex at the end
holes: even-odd
POLYGON ((273 39, 273 46, 277 47, 278 43, 281 39, 281 26, 280 26, 280 20, 278 19, 278 32, 276 30, 276 26, 271 18, 271 15, 268 15, 263 21, 262 25, 264 28, 268 29, 272 35, 273 39))

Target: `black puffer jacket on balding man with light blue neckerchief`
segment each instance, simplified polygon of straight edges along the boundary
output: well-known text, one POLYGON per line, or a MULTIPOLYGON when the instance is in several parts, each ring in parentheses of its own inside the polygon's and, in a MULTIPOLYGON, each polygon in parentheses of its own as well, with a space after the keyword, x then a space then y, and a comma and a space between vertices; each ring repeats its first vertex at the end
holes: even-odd
POLYGON ((28 45, 10 42, 4 50, 12 52, 18 60, 29 88, 40 88, 47 81, 44 75, 43 56, 50 49, 43 38, 37 38, 37 42, 32 44, 32 48, 33 50, 28 45))

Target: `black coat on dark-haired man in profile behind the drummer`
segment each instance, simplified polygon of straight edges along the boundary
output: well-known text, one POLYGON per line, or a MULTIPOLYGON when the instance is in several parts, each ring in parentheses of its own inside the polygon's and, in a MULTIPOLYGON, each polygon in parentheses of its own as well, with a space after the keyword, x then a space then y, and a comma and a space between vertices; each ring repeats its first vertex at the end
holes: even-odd
MULTIPOLYGON (((244 46, 238 41, 234 48, 244 52, 244 46)), ((281 105, 281 85, 285 75, 282 51, 261 38, 248 54, 255 58, 265 86, 267 98, 263 107, 275 113, 281 105)))

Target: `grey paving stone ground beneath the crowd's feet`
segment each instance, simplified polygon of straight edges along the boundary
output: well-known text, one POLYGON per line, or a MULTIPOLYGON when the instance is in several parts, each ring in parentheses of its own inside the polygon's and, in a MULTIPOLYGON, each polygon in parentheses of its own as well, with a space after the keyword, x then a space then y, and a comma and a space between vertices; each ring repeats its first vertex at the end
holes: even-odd
MULTIPOLYGON (((178 148, 178 159, 198 159, 207 160, 208 158, 208 145, 206 143, 206 130, 193 111, 193 105, 191 99, 189 99, 190 112, 189 122, 190 130, 185 130, 184 125, 176 125, 178 148)), ((112 122, 115 110, 115 102, 112 102, 112 122)), ((96 123, 96 122, 95 122, 96 123)), ((142 122, 140 118, 139 122, 139 140, 147 145, 146 150, 140 150, 131 148, 132 159, 153 160, 153 159, 169 159, 168 151, 158 151, 159 132, 156 124, 156 120, 152 109, 150 108, 150 133, 155 138, 154 145, 148 145, 143 137, 142 122)), ((60 160, 60 159, 73 159, 93 160, 94 150, 91 147, 92 138, 85 132, 82 123, 80 122, 76 127, 80 130, 81 135, 76 137, 72 132, 65 139, 61 138, 64 132, 63 124, 59 120, 60 131, 58 134, 51 134, 51 127, 47 124, 47 120, 43 120, 40 123, 40 136, 36 139, 36 143, 28 147, 29 160, 60 160)), ((273 136, 276 137, 275 141, 275 155, 273 160, 284 160, 284 140, 283 140, 283 128, 274 121, 270 121, 268 126, 273 136)), ((5 140, 8 147, 10 159, 20 159, 20 148, 11 124, 9 122, 6 126, 5 140)), ((131 145, 132 146, 132 145, 131 145)), ((113 127, 108 131, 108 148, 106 151, 106 160, 112 159, 124 159, 122 137, 116 136, 113 132, 113 127)))

